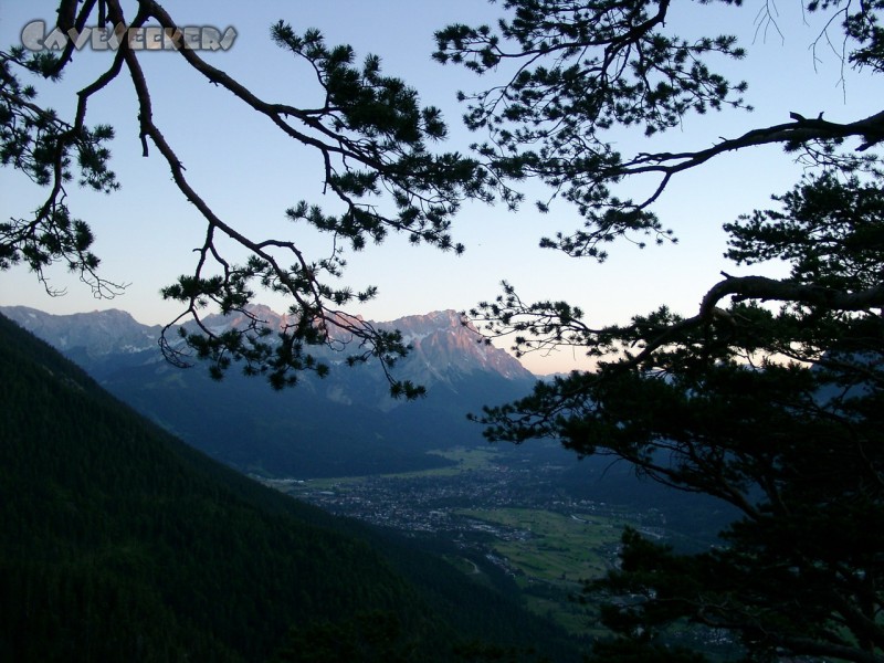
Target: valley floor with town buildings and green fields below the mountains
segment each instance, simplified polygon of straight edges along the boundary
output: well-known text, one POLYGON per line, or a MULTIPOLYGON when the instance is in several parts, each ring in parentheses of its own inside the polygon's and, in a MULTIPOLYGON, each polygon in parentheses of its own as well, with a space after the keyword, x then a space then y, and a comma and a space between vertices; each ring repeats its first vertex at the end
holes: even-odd
POLYGON ((476 581, 522 594, 573 635, 598 634, 591 608, 573 600, 582 580, 617 564, 625 526, 665 536, 665 517, 575 498, 559 486, 565 467, 519 450, 434 452, 456 465, 408 474, 271 480, 255 477, 332 513, 420 537, 476 581))

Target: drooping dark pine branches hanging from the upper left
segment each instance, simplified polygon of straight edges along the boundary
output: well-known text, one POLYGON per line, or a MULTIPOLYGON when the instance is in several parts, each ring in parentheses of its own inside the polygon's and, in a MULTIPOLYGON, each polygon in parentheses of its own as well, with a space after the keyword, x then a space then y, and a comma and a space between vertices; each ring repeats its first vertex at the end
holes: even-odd
POLYGON ((164 336, 167 357, 182 366, 191 362, 192 355, 207 359, 212 375, 219 378, 233 362, 241 361, 248 373, 265 375, 274 388, 282 388, 294 385, 303 371, 325 375, 328 366, 311 355, 309 347, 343 346, 345 339, 356 348, 349 362, 376 359, 393 396, 421 394, 420 387, 398 381, 390 373, 407 351, 401 337, 376 329, 346 311, 348 304, 371 299, 376 288, 368 285, 354 291, 334 282, 345 267, 343 245, 358 251, 381 242, 391 232, 404 233, 414 244, 463 251, 452 239, 451 220, 463 200, 490 200, 492 192, 475 159, 430 148, 448 130, 439 109, 421 106, 412 87, 385 75, 379 57, 368 55, 359 62, 351 46, 329 45, 317 30, 302 34, 284 21, 271 28, 280 56, 306 63, 315 72, 317 90, 305 93, 283 88, 278 99, 261 98, 210 64, 199 51, 177 50, 181 67, 265 116, 282 140, 320 157, 325 192, 334 197, 330 207, 339 211, 326 212, 302 200, 285 212, 293 224, 311 224, 334 239, 330 255, 312 256, 290 238, 257 236, 254 229, 234 225, 223 210, 211 207, 191 183, 176 146, 155 120, 151 86, 141 65, 145 51, 131 48, 126 30, 152 25, 166 35, 180 35, 181 27, 173 17, 152 0, 57 2, 55 28, 61 33, 80 33, 96 25, 118 30, 118 48, 108 57, 106 71, 80 91, 75 115, 70 119, 41 105, 38 91, 46 80, 57 80, 77 66, 74 39, 67 40, 61 52, 30 52, 21 45, 0 51, 0 162, 21 170, 46 189, 33 214, 0 223, 0 269, 25 263, 51 290, 44 270, 60 262, 78 273, 96 296, 113 296, 123 290, 101 275, 99 260, 91 251, 88 222, 76 219, 69 209, 67 189, 75 179, 106 192, 119 186, 107 147, 113 128, 91 127, 88 104, 98 103, 99 93, 115 80, 129 84, 125 78, 130 78, 144 156, 166 162, 175 187, 193 204, 206 229, 192 270, 162 291, 164 297, 183 307, 167 332, 186 319, 196 323, 196 330, 182 333, 189 350, 181 351, 173 338, 164 336), (299 107, 286 96, 319 96, 324 101, 317 107, 299 107), (236 246, 234 251, 244 249, 249 257, 233 262, 231 245, 236 246), (278 333, 250 313, 249 304, 262 288, 284 294, 297 322, 278 333), (245 315, 250 324, 217 334, 203 324, 207 313, 217 312, 245 315))

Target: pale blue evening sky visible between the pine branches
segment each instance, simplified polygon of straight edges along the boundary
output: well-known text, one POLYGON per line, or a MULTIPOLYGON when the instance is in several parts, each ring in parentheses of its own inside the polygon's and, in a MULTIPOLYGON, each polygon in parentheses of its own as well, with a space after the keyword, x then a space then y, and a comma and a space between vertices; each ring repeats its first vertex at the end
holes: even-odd
MULTIPOLYGON (((317 86, 309 72, 270 40, 270 25, 283 19, 296 31, 318 28, 328 44, 349 43, 359 59, 368 53, 379 55, 383 73, 415 87, 424 105, 442 108, 450 127, 450 140, 442 149, 465 151, 476 139, 460 123, 463 107, 456 93, 484 88, 494 78, 486 81, 433 62, 432 34, 452 22, 493 22, 503 11, 499 4, 482 0, 168 0, 162 4, 182 25, 212 25, 221 31, 233 27, 238 35, 230 50, 203 55, 262 98, 302 107, 316 99, 317 86)), ((22 28, 32 20, 51 24, 55 6, 51 1, 0 0, 0 48, 21 43, 22 28)), ((133 7, 134 2, 124 1, 128 14, 134 14, 133 7)), ((844 72, 825 44, 815 52, 809 49, 820 31, 815 19, 802 15, 798 2, 788 7, 746 2, 743 8, 678 4, 667 30, 733 33, 748 49, 745 61, 722 63, 720 69, 748 81, 746 101, 755 112, 688 117, 682 127, 649 143, 648 149, 701 149, 719 137, 788 122, 792 110, 806 116, 824 110, 825 118, 833 122, 878 110, 876 102, 882 94, 873 90, 874 82, 844 72), (762 7, 776 12, 778 29, 759 21, 762 7)), ((61 83, 38 85, 40 98, 71 117, 76 91, 103 71, 110 57, 109 51, 78 52, 61 83)), ((151 88, 155 120, 207 202, 234 227, 261 236, 293 239, 314 259, 327 255, 327 236, 284 219, 285 209, 298 200, 319 204, 327 200, 316 156, 284 139, 266 118, 225 91, 208 84, 179 54, 144 53, 141 63, 151 88)), ((88 123, 99 122, 116 129, 112 168, 122 188, 105 196, 71 187, 69 204, 96 234, 94 250, 102 259, 102 275, 126 283, 125 294, 110 301, 95 299, 87 286, 59 267, 49 272, 51 284, 66 294, 51 297, 27 267, 15 266, 0 273, 0 305, 55 314, 122 308, 140 323, 166 324, 180 311, 177 304, 164 302, 159 290, 191 269, 204 223, 171 182, 159 155, 154 150, 143 158, 135 95, 127 76, 119 76, 91 102, 88 123)), ((622 131, 617 139, 624 150, 642 148, 646 141, 641 135, 622 131)), ((354 290, 378 286, 375 301, 352 311, 379 322, 438 309, 469 309, 499 294, 502 280, 515 285, 524 301, 565 299, 580 306, 592 326, 624 323, 663 304, 692 315, 703 294, 720 280, 720 271, 749 273, 723 257, 726 236, 722 224, 769 207, 770 194, 787 191, 800 173, 800 166, 776 147, 713 160, 675 179, 655 207, 664 225, 675 230, 677 244, 644 250, 628 242, 614 244, 603 264, 538 249, 541 236, 576 229, 580 219, 562 202, 554 204, 548 214, 537 212, 530 201, 545 192, 529 185, 525 187, 528 200, 515 213, 503 206, 464 206, 452 233, 465 244, 463 255, 432 246, 413 248, 407 238, 391 235, 382 245, 349 254, 343 283, 354 290)), ((629 186, 636 187, 635 191, 642 187, 640 182, 629 186)), ((27 214, 44 194, 21 173, 0 169, 3 218, 27 214)), ((782 267, 770 265, 761 272, 778 274, 782 267)), ((270 295, 259 299, 276 311, 286 307, 270 295)), ((590 366, 579 350, 571 349, 529 355, 523 362, 537 373, 590 366)))

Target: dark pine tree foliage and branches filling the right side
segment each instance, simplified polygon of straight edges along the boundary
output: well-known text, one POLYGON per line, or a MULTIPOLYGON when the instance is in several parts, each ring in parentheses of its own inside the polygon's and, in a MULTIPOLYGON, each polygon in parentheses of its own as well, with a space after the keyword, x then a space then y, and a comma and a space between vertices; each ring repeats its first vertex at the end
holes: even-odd
MULTIPOLYGON (((593 326, 566 302, 526 303, 505 283, 472 312, 488 335, 513 335, 517 352, 582 348, 599 368, 477 419, 492 440, 558 438, 741 512, 702 555, 624 535, 622 568, 588 587, 608 597, 604 619, 622 635, 597 660, 696 660, 664 646, 666 627, 691 622, 729 632, 751 660, 882 661, 884 178, 873 148, 884 110, 843 124, 793 112, 698 149, 624 154, 612 129, 652 137, 747 106, 749 86, 715 72, 744 56, 737 38, 681 36, 670 4, 507 0, 494 28, 439 31, 435 56, 481 81, 515 72, 462 94, 466 122, 486 136, 476 149, 493 169, 539 178, 577 207, 583 225, 543 241, 571 256, 603 261, 618 238, 667 242, 654 202, 673 178, 781 146, 802 179, 725 230, 736 264, 782 261, 789 274, 723 273, 693 315, 662 307, 617 326, 593 326), (618 196, 649 177, 646 197, 618 196)), ((843 66, 874 84, 884 3, 803 9, 824 15, 815 43, 839 44, 843 66)), ((766 11, 762 21, 777 20, 766 11)))

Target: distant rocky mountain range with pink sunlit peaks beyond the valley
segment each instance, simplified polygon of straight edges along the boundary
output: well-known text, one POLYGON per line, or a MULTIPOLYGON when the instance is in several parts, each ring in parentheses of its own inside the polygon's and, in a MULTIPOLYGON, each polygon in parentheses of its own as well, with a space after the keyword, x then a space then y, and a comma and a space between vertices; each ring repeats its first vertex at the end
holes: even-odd
MULTIPOLYGON (((343 366, 345 354, 324 351, 323 359, 333 365, 327 378, 306 376, 295 388, 273 392, 263 380, 236 371, 217 382, 199 364, 192 369, 169 365, 157 344, 161 327, 141 325, 122 311, 50 315, 13 306, 0 313, 191 445, 243 472, 267 476, 443 465, 448 461, 428 451, 484 443, 467 412, 524 396, 536 380, 507 352, 482 343, 454 311, 373 323, 399 329, 411 346, 396 377, 427 387, 427 398, 418 402, 392 399, 377 366, 343 366)), ((270 326, 286 322, 266 307, 252 313, 270 326)), ((236 316, 206 322, 219 330, 242 324, 236 316)))

